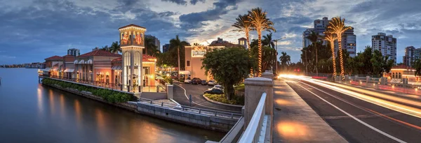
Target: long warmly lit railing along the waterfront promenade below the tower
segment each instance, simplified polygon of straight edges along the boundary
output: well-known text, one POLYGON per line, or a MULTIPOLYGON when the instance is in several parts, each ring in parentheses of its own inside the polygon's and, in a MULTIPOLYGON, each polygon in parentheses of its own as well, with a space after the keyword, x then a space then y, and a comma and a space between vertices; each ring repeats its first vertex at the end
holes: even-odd
POLYGON ((62 76, 44 76, 44 77, 50 77, 53 79, 58 80, 65 80, 69 82, 77 82, 81 84, 89 84, 93 86, 100 86, 105 89, 112 89, 112 90, 118 90, 118 91, 127 91, 127 92, 133 92, 133 88, 135 88, 136 91, 139 91, 139 89, 142 89, 142 92, 164 92, 166 93, 166 86, 165 85, 157 85, 157 86, 131 86, 131 85, 125 85, 125 84, 114 84, 109 82, 98 82, 93 80, 86 80, 86 79, 76 79, 76 78, 67 78, 62 76))

